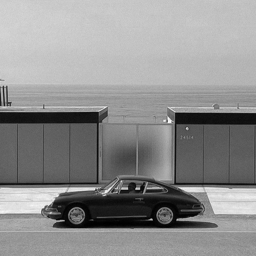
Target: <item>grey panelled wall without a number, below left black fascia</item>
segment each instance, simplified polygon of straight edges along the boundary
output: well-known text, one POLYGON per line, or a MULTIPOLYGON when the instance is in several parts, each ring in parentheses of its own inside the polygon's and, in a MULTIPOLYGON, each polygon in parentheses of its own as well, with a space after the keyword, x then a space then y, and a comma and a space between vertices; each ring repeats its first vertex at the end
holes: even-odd
POLYGON ((97 124, 0 124, 0 183, 96 183, 97 124))

